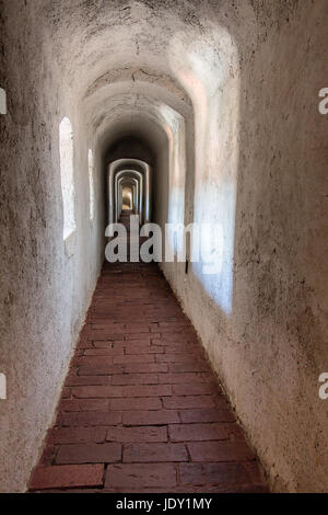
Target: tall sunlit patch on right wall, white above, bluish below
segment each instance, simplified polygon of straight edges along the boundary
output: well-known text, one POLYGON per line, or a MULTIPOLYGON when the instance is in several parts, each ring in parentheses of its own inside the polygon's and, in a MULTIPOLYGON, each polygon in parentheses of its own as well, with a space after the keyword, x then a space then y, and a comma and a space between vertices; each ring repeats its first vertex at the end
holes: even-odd
POLYGON ((184 55, 183 62, 172 59, 172 67, 195 112, 194 222, 213 227, 203 232, 201 260, 192 263, 192 272, 208 296, 230 314, 239 152, 238 52, 224 28, 212 34, 211 45, 176 34, 171 46, 173 55, 184 55), (208 266, 211 256, 212 268, 208 266))

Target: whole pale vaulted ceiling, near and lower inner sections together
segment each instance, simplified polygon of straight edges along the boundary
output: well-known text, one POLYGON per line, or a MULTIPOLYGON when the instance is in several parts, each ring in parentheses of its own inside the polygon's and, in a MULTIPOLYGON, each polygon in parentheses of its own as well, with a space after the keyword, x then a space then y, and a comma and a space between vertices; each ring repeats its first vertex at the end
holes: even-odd
POLYGON ((159 146, 165 108, 190 119, 191 104, 203 105, 198 95, 214 94, 234 73, 235 36, 255 44, 253 3, 44 0, 39 9, 62 94, 83 104, 92 131, 105 145, 110 126, 141 126, 142 117, 159 146))

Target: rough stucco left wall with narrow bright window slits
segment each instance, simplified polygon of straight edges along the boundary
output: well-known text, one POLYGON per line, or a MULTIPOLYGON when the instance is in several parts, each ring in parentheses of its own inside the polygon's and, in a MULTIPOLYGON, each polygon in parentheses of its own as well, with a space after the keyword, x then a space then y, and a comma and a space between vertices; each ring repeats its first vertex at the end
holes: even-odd
POLYGON ((99 271, 103 239, 84 208, 89 141, 42 18, 22 1, 0 2, 0 82, 8 94, 8 114, 0 117, 0 370, 8 380, 8 400, 0 401, 0 491, 17 492, 51 423, 99 271), (62 241, 58 130, 63 116, 74 130, 78 229, 70 258, 62 241))

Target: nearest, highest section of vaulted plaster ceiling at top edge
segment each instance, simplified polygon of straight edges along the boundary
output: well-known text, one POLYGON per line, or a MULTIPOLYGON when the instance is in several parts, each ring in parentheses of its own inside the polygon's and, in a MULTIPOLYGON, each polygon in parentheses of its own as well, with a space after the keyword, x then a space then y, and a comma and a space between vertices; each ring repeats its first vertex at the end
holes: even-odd
POLYGON ((207 58, 207 48, 224 54, 230 37, 238 46, 246 46, 247 42, 249 47, 259 15, 256 0, 233 5, 230 0, 40 3, 66 85, 83 94, 96 80, 122 67, 176 78, 190 50, 202 58, 207 58))

